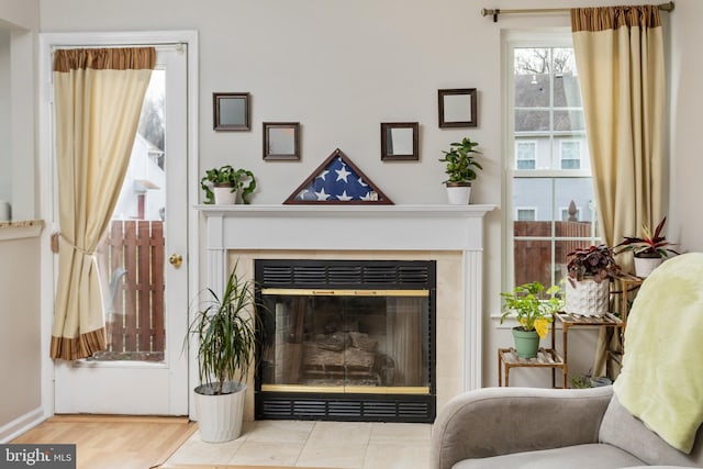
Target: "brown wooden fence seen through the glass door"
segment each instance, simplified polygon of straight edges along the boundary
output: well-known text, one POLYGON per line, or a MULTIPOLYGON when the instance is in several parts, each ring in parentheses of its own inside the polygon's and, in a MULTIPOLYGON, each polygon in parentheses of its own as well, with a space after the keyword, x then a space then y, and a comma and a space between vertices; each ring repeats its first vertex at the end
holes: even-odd
POLYGON ((161 221, 115 220, 98 249, 112 358, 163 356, 164 247, 161 221))

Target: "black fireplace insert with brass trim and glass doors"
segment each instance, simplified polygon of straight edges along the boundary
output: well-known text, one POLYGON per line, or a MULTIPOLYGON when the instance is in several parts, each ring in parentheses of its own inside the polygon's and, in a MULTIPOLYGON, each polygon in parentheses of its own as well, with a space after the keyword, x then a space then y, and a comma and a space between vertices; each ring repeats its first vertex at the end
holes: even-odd
POLYGON ((256 418, 433 422, 434 261, 255 260, 256 418))

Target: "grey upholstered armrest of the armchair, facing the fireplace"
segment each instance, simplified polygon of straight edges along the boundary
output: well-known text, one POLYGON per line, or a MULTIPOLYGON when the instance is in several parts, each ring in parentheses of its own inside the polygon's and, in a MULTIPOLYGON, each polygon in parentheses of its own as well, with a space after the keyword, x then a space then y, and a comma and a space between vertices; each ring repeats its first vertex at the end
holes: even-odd
POLYGON ((432 428, 431 468, 520 451, 598 443, 612 387, 486 388, 451 399, 432 428))

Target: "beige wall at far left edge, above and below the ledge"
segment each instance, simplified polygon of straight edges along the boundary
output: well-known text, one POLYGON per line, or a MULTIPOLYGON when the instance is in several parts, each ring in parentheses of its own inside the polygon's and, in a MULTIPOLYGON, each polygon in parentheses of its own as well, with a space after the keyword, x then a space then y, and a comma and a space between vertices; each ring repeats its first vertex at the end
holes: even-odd
MULTIPOLYGON (((33 38, 38 4, 0 0, 0 199, 11 200, 13 215, 25 219, 35 215, 33 38)), ((41 416, 40 277, 38 238, 0 239, 0 376, 7 384, 0 440, 41 416)))

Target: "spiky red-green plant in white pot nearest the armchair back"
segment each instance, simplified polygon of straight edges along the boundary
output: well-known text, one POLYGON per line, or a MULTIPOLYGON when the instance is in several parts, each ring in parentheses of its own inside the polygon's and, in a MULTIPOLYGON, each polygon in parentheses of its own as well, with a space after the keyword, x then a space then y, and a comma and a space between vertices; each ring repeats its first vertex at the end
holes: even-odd
POLYGON ((635 261, 635 275, 637 277, 646 278, 656 269, 669 254, 679 254, 669 246, 674 246, 673 243, 669 243, 661 234, 663 225, 667 223, 667 217, 661 219, 661 222, 655 228, 652 233, 649 226, 641 227, 641 237, 625 236, 623 241, 615 246, 621 248, 616 254, 621 254, 631 250, 635 261))

